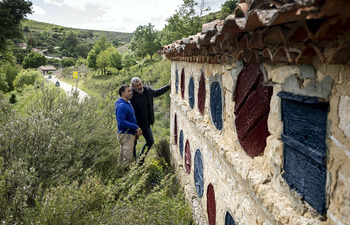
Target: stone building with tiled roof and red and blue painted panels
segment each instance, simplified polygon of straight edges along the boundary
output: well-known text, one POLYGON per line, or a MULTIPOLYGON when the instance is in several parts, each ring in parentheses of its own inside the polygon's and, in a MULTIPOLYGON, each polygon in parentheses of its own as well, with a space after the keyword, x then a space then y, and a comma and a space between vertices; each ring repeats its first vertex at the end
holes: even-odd
POLYGON ((198 224, 349 224, 350 2, 241 0, 163 46, 198 224))

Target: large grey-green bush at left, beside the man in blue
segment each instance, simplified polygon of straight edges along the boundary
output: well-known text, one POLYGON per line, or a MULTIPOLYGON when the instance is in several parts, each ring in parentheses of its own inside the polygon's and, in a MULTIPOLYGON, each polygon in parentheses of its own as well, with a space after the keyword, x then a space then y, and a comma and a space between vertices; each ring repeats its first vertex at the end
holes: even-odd
POLYGON ((101 108, 94 99, 79 104, 77 96, 42 92, 27 116, 0 110, 0 202, 7 202, 0 206, 0 221, 10 224, 36 211, 36 196, 48 188, 81 184, 92 173, 106 183, 123 175, 109 110, 114 106, 101 108))

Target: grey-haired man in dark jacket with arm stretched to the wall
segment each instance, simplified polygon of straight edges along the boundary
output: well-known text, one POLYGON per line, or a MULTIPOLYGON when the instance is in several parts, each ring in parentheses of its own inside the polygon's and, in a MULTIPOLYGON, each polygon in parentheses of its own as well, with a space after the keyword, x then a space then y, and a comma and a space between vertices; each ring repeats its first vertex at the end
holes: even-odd
MULTIPOLYGON (((146 140, 146 143, 142 147, 140 157, 144 153, 146 146, 148 146, 148 149, 145 152, 145 156, 154 143, 153 133, 151 129, 151 125, 154 123, 153 97, 158 97, 167 92, 170 89, 170 84, 171 83, 169 81, 168 85, 153 90, 150 87, 143 86, 140 78, 133 77, 131 79, 133 97, 130 102, 135 109, 137 125, 141 128, 142 135, 146 140)), ((136 157, 136 148, 134 149, 134 157, 136 157)), ((140 160, 140 163, 143 163, 143 160, 144 158, 140 160)))

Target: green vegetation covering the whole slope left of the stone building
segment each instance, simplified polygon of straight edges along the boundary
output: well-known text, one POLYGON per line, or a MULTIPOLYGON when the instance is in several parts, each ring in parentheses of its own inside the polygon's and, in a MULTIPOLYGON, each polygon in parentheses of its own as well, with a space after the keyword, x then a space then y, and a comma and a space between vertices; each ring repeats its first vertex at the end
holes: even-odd
MULTIPOLYGON (((10 2, 28 8, 28 2, 22 0, 4 0, 1 4, 10 2)), ((222 10, 220 17, 225 17, 236 3, 235 0, 227 2, 230 4, 223 5, 226 11, 222 10)), ((114 102, 118 98, 117 88, 130 83, 133 76, 139 76, 153 88, 168 83, 170 62, 154 55, 160 43, 168 44, 194 34, 202 23, 218 18, 216 14, 203 17, 206 11, 203 5, 197 15, 197 6, 193 0, 184 0, 179 11, 168 19, 164 31, 154 30, 151 24, 140 26, 133 41, 132 34, 73 29, 27 20, 22 22, 22 27, 29 47, 21 49, 15 45, 22 42, 18 35, 22 29, 18 24, 20 20, 12 21, 15 35, 2 32, 0 38, 7 41, 2 42, 0 49, 2 223, 193 222, 191 210, 169 166, 169 95, 155 99, 155 145, 146 163, 141 167, 135 165, 129 172, 117 163, 119 143, 114 102), (174 24, 181 24, 183 29, 172 26, 174 24), (151 40, 145 38, 148 34, 152 34, 151 40), (130 41, 134 43, 130 46, 133 52, 125 52, 120 57, 115 49, 130 41), (147 44, 135 44, 142 41, 147 44), (48 63, 61 67, 62 79, 73 85, 75 80, 70 76, 78 71, 79 87, 91 98, 79 104, 77 95, 67 98, 52 84, 38 78, 36 71, 22 70, 46 64, 46 61, 40 65, 27 63, 34 58, 31 57, 34 54, 30 54, 34 47, 43 50, 46 56, 68 57, 60 61, 49 59, 48 63), (90 63, 89 53, 95 57, 95 61, 90 62, 96 63, 90 69, 86 66, 90 63), (103 64, 105 61, 109 63, 103 64)), ((28 10, 20 12, 20 19, 28 10)), ((141 138, 138 151, 143 142, 141 138)))

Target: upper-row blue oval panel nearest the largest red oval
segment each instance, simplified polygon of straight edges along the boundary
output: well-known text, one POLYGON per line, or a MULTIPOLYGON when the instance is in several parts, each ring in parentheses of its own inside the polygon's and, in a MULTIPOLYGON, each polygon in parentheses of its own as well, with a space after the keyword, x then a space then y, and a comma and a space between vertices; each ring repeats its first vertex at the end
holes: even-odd
POLYGON ((219 82, 213 82, 210 87, 210 109, 215 127, 222 129, 222 96, 219 82))

